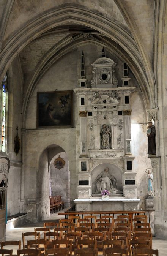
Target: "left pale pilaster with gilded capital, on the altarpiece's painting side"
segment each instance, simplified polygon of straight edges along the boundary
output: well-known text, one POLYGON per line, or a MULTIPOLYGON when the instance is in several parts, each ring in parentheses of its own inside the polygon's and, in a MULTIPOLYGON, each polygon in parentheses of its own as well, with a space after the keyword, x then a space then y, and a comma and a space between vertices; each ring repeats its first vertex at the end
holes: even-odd
POLYGON ((79 111, 80 116, 80 155, 87 156, 87 111, 79 111))

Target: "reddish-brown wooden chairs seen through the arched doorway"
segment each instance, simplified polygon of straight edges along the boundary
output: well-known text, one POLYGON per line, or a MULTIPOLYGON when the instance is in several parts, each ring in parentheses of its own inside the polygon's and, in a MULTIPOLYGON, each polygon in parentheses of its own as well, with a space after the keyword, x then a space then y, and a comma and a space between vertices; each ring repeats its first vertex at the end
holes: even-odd
POLYGON ((50 198, 50 212, 58 212, 66 207, 66 202, 61 201, 61 196, 49 196, 50 198))

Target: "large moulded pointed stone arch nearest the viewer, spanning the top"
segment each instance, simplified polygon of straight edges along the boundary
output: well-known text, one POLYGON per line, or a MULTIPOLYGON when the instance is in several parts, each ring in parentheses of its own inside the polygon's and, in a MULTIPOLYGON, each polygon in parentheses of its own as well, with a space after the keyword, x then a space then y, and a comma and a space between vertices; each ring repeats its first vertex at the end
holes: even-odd
MULTIPOLYGON (((28 43, 34 40, 37 36, 46 32, 47 30, 66 25, 66 24, 80 24, 89 26, 101 32, 104 36, 110 40, 115 41, 132 59, 135 60, 137 65, 142 68, 145 66, 139 50, 135 44, 131 34, 121 28, 113 21, 106 19, 102 15, 93 13, 92 11, 84 10, 76 7, 65 7, 57 10, 53 10, 50 13, 41 15, 33 22, 27 24, 17 35, 9 41, 8 44, 3 48, 0 58, 3 61, 0 63, 0 69, 2 69, 2 76, 8 65, 16 57, 16 55, 25 47, 28 43), (76 15, 77 13, 77 15, 76 15), (139 59, 141 61, 139 61, 139 59)), ((149 92, 150 107, 153 108, 154 103, 154 83, 150 79, 150 84, 147 78, 147 67, 146 71, 143 70, 142 74, 146 82, 145 86, 149 92)), ((2 79, 2 77, 0 77, 2 79)))

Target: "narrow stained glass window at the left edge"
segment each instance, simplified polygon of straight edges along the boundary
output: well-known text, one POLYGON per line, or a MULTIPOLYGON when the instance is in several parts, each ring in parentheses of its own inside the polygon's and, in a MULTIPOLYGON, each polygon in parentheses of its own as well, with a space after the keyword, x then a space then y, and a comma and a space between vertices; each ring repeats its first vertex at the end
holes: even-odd
POLYGON ((1 116, 1 151, 5 152, 5 140, 6 140, 6 92, 7 92, 7 74, 2 81, 2 88, 0 90, 0 116, 1 116))

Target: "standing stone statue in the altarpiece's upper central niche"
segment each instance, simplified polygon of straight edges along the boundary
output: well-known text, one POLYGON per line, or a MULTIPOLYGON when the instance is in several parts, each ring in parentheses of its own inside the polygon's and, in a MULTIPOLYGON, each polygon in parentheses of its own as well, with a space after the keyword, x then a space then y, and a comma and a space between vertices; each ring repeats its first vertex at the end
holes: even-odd
POLYGON ((111 145, 111 130, 105 123, 100 131, 102 149, 110 149, 111 145))

